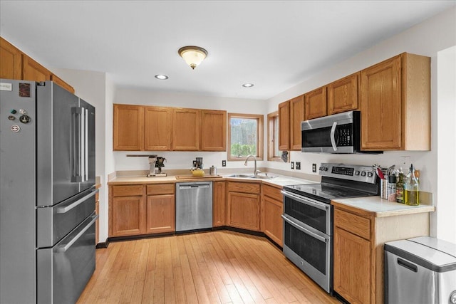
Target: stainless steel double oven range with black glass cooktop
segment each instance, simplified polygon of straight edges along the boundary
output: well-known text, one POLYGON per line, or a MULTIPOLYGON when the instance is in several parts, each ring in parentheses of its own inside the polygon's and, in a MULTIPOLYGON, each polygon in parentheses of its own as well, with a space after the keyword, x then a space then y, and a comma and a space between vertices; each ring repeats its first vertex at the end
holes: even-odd
POLYGON ((375 196, 373 167, 322 163, 320 184, 284 186, 284 255, 327 293, 333 291, 332 199, 375 196))

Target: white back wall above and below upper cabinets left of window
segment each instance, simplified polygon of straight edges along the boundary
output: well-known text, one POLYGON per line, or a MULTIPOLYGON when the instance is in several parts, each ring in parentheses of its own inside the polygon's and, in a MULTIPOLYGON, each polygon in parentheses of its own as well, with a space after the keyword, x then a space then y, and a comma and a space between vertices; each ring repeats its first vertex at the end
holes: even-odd
MULTIPOLYGON (((116 90, 115 103, 131 105, 157 105, 178 108, 227 110, 231 113, 266 114, 264 100, 242 98, 209 97, 183 93, 160 93, 147 90, 116 90)), ((148 170, 145 157, 126 157, 127 154, 158 154, 165 157, 164 172, 167 169, 185 169, 192 167, 195 157, 203 157, 204 168, 222 167, 222 160, 227 159, 227 152, 114 152, 115 170, 148 170)), ((244 162, 227 162, 227 168, 244 167, 244 162)), ((258 162, 261 167, 263 162, 258 162)))

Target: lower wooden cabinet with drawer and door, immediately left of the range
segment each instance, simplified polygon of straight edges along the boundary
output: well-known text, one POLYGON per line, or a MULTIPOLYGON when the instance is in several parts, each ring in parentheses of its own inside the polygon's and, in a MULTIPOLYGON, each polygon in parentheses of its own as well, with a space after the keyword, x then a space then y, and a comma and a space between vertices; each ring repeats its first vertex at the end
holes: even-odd
POLYGON ((263 184, 261 199, 261 231, 279 246, 284 246, 284 203, 281 188, 263 184))

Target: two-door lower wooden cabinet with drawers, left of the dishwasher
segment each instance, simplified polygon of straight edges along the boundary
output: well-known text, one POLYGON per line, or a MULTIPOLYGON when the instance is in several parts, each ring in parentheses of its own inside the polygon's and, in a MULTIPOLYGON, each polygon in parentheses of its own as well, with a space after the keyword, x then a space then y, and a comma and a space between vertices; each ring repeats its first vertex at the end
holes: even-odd
POLYGON ((110 186, 110 236, 175 231, 175 184, 110 186))

